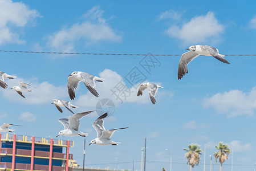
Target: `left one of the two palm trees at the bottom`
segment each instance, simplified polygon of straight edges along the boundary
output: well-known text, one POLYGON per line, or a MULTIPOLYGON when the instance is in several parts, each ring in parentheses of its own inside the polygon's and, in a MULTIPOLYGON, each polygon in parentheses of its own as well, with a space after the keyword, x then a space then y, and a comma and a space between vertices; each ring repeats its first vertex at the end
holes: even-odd
POLYGON ((192 168, 194 168, 194 165, 198 165, 200 162, 200 156, 202 155, 200 152, 202 152, 201 148, 198 144, 189 144, 189 149, 184 149, 186 151, 185 157, 186 157, 186 164, 190 165, 190 171, 192 168))

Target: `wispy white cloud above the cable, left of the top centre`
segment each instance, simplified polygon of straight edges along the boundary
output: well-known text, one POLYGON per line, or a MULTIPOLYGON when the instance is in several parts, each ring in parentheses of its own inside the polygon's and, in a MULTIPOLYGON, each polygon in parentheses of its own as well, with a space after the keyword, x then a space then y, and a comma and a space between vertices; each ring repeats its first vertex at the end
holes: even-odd
POLYGON ((82 22, 74 23, 71 27, 63 28, 48 36, 48 46, 55 50, 70 52, 74 50, 75 43, 84 41, 84 45, 99 41, 118 42, 121 36, 107 24, 102 17, 104 13, 98 6, 93 7, 83 16, 82 22))

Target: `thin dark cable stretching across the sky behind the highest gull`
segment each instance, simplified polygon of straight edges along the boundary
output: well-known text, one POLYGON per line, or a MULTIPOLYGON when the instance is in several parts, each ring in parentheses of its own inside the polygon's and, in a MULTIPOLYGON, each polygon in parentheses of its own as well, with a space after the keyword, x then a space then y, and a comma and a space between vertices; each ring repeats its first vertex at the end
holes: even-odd
MULTIPOLYGON (((120 56, 146 56, 149 54, 108 54, 108 53, 83 53, 83 52, 39 52, 39 51, 7 51, 0 52, 15 52, 15 53, 32 53, 32 54, 66 54, 66 55, 120 55, 120 56)), ((177 54, 152 54, 154 56, 181 56, 177 54)), ((230 54, 225 56, 256 56, 256 54, 230 54)))

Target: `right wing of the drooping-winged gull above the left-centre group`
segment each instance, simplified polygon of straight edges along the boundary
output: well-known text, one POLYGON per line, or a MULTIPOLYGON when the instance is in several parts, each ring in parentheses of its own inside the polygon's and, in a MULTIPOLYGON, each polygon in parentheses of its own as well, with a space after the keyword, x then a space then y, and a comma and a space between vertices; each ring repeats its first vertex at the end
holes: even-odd
POLYGON ((83 83, 86 85, 86 87, 88 88, 88 90, 95 95, 96 97, 99 97, 99 93, 96 91, 95 87, 95 76, 88 74, 86 72, 82 72, 81 73, 81 77, 83 79, 83 83))

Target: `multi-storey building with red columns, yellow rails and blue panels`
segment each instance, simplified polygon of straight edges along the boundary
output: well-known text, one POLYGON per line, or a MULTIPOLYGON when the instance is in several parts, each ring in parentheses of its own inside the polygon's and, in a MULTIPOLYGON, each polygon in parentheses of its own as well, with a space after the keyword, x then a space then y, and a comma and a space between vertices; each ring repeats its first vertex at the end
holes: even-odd
POLYGON ((72 170, 68 161, 73 159, 73 141, 9 133, 0 134, 0 140, 0 170, 72 170))

